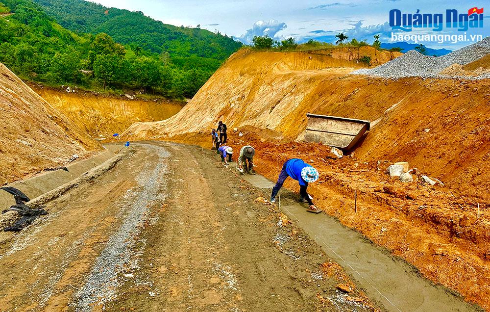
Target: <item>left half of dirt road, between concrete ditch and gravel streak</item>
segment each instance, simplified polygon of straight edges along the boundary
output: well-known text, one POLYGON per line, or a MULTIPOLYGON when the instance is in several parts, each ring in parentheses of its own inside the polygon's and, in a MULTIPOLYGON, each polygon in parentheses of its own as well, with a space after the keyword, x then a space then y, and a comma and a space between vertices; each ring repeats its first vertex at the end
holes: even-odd
POLYGON ((96 181, 50 202, 46 217, 2 244, 0 310, 65 309, 141 191, 138 174, 153 170, 155 158, 137 150, 96 181))

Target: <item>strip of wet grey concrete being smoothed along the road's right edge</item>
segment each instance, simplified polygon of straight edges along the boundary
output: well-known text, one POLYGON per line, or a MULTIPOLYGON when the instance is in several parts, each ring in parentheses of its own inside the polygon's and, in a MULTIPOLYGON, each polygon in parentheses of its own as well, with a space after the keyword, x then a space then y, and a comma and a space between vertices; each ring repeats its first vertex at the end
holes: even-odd
MULTIPOLYGON (((230 168, 233 168, 232 163, 230 168)), ((269 195, 274 186, 260 175, 243 178, 269 195)), ((364 288, 372 300, 393 312, 483 311, 471 305, 450 289, 435 285, 419 276, 406 261, 390 255, 390 251, 373 244, 358 232, 344 227, 327 214, 312 214, 299 204, 281 205, 281 210, 294 219, 325 253, 341 264, 345 271, 364 288)))

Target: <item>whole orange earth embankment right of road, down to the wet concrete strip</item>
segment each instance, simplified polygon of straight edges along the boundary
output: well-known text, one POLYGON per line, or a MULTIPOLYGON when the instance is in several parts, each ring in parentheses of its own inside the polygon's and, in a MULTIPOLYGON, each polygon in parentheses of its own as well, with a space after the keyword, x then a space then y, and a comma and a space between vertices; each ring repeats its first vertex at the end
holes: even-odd
POLYGON ((209 147, 210 128, 223 120, 229 144, 253 144, 257 170, 271 180, 284 160, 311 159, 322 172, 311 187, 321 208, 489 310, 490 123, 482 112, 490 82, 351 76, 358 64, 332 58, 238 52, 181 112, 135 124, 125 135, 209 147), (334 161, 328 147, 300 143, 306 112, 371 120, 371 131, 355 158, 334 161), (402 160, 446 187, 390 179, 386 165, 402 160))

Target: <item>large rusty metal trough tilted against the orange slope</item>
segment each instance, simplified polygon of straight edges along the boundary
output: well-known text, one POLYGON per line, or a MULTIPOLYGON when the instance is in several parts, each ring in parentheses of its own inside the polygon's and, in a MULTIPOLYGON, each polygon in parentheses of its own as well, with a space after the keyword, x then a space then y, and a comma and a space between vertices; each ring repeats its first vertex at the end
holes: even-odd
POLYGON ((351 150, 369 130, 368 120, 350 119, 336 116, 307 113, 305 140, 334 146, 345 151, 351 150))

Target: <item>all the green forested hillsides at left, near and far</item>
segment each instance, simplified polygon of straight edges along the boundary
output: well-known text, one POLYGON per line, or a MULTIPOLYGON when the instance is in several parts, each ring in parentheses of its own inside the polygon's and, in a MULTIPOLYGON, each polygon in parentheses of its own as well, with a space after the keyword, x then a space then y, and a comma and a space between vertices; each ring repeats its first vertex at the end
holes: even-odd
MULTIPOLYGON (((77 3, 100 7, 85 1, 77 3)), ((80 15, 77 15, 79 19, 73 17, 78 25, 86 25, 75 33, 57 24, 55 18, 32 0, 0 0, 0 11, 13 13, 0 15, 0 62, 21 78, 49 84, 76 84, 87 89, 141 88, 144 92, 150 90, 168 97, 192 97, 235 51, 233 49, 240 46, 231 38, 206 30, 175 26, 169 26, 172 35, 168 41, 160 39, 163 43, 160 47, 157 41, 147 40, 147 45, 141 44, 145 36, 153 39, 148 32, 140 37, 136 33, 134 36, 126 34, 127 41, 117 43, 104 32, 94 30, 87 34, 82 31, 93 27, 93 17, 88 20, 80 15), (172 27, 179 30, 172 30, 172 27), (142 41, 129 41, 132 37, 142 41), (196 37, 200 39, 195 41, 196 37), (221 41, 226 45, 221 46, 221 41), (231 49, 233 46, 235 48, 231 49)), ((137 31, 134 29, 144 23, 165 26, 141 13, 117 12, 121 14, 105 20, 99 27, 110 28, 110 25, 123 23, 119 38, 124 38, 123 33, 131 29, 137 31)), ((85 13, 90 16, 88 11, 85 13)), ((102 13, 104 18, 106 15, 102 13)))

